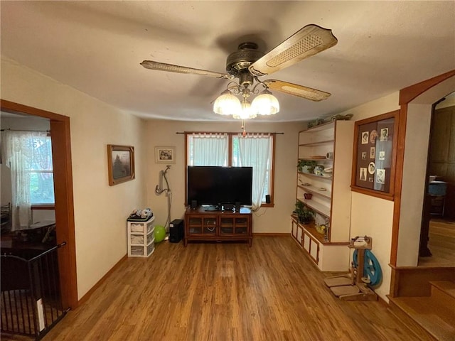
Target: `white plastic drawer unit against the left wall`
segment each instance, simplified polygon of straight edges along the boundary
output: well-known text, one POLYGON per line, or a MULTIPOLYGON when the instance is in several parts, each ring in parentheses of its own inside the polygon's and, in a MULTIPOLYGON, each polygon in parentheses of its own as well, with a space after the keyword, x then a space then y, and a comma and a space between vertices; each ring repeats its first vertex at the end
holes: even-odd
POLYGON ((129 257, 148 257, 155 251, 155 217, 146 222, 127 222, 129 257))

